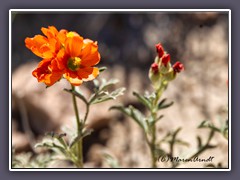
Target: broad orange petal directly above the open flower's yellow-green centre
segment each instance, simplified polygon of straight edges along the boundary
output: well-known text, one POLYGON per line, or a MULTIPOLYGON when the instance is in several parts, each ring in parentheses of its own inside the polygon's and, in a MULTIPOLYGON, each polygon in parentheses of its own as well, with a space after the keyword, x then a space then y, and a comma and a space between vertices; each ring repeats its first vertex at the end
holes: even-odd
POLYGON ((71 57, 77 57, 81 54, 81 49, 83 46, 83 38, 81 36, 69 37, 66 40, 66 52, 71 57))

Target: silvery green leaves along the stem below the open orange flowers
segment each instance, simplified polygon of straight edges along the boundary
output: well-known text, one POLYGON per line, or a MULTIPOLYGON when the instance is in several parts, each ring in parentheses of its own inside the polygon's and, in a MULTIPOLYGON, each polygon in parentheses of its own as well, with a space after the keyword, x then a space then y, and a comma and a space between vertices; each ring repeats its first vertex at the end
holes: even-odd
POLYGON ((106 79, 102 79, 101 81, 95 79, 93 82, 94 92, 89 98, 86 98, 77 89, 64 89, 66 92, 71 93, 82 100, 87 107, 87 113, 84 119, 81 119, 80 122, 81 132, 77 134, 77 127, 69 128, 65 126, 62 128, 63 133, 47 133, 42 142, 35 145, 36 148, 47 148, 54 151, 56 154, 62 155, 66 160, 73 162, 75 165, 78 164, 77 144, 84 137, 90 135, 93 131, 92 129, 89 129, 85 126, 89 106, 109 100, 114 100, 118 96, 123 95, 123 92, 125 91, 125 88, 118 88, 112 91, 109 90, 112 86, 118 83, 118 80, 115 79, 108 81, 106 79), (65 136, 67 138, 65 138, 65 136))

